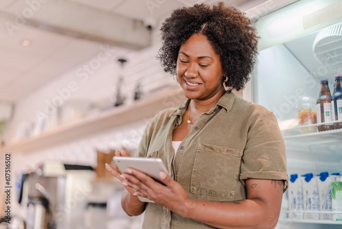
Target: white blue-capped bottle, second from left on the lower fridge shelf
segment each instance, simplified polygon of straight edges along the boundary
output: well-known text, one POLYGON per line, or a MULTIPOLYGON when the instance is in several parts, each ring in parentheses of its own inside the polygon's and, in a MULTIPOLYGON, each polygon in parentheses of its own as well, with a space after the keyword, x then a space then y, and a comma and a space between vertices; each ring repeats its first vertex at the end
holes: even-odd
POLYGON ((317 182, 313 178, 313 173, 306 173, 302 175, 302 187, 303 187, 303 219, 319 219, 319 196, 317 189, 317 182), (317 211, 317 213, 305 212, 305 211, 317 211))

